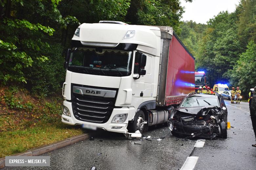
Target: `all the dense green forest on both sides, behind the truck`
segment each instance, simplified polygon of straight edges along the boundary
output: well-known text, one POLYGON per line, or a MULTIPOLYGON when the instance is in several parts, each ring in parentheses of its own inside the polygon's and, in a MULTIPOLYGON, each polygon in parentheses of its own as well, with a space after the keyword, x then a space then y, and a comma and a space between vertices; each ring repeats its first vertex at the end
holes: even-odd
POLYGON ((247 94, 256 85, 256 0, 241 0, 234 12, 220 11, 207 25, 181 22, 180 1, 1 0, 0 83, 40 96, 59 93, 77 26, 113 20, 172 26, 210 86, 226 83, 247 94))

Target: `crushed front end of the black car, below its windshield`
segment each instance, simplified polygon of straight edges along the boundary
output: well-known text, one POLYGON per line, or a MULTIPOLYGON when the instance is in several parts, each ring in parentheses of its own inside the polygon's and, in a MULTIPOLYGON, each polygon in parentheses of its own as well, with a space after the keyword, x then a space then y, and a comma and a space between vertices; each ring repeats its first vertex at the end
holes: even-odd
MULTIPOLYGON (((199 99, 198 99, 199 100, 199 99)), ((168 126, 173 135, 226 138, 227 110, 219 106, 180 107, 168 126)))

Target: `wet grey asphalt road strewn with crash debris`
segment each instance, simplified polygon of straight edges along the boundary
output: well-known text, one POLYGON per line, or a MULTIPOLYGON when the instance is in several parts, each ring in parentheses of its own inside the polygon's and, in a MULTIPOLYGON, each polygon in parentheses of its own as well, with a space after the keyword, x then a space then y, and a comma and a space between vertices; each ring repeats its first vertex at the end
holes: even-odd
POLYGON ((148 132, 143 133, 145 137, 151 138, 164 136, 160 141, 147 141, 142 138, 130 140, 123 134, 100 130, 92 132, 94 141, 85 140, 42 155, 51 156, 50 167, 4 169, 90 170, 95 166, 97 170, 178 170, 188 157, 198 159, 194 162, 195 170, 256 169, 256 148, 251 146, 256 141, 248 103, 231 104, 227 100, 225 102, 228 122, 233 128, 228 129, 226 140, 206 140, 202 148, 194 147, 198 139, 182 141, 182 138, 173 137, 166 125, 151 127, 148 132))

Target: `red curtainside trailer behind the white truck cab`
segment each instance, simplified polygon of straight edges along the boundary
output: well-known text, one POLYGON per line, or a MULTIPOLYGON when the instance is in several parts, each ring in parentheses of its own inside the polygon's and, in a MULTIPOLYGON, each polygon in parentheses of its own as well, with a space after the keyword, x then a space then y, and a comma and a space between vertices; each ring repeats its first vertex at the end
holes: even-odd
POLYGON ((160 27, 162 50, 157 106, 180 104, 187 94, 195 91, 195 58, 175 32, 166 28, 160 27))

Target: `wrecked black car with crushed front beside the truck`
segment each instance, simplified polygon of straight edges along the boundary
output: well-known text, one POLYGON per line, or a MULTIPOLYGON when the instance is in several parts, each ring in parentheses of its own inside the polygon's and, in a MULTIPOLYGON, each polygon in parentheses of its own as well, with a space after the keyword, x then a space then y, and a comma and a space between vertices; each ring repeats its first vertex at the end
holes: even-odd
POLYGON ((173 135, 187 138, 227 138, 227 109, 218 94, 188 94, 170 115, 168 126, 173 135))

